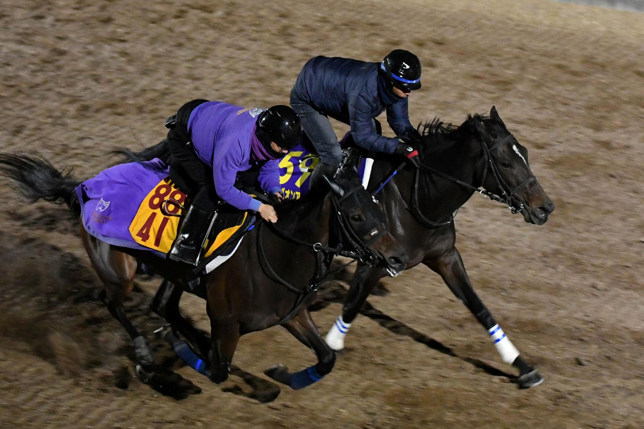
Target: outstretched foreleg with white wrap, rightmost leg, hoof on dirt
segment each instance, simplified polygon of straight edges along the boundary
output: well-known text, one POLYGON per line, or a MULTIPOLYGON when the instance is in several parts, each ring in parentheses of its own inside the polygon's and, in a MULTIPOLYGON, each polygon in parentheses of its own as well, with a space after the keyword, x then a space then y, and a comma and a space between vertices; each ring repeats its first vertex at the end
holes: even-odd
POLYGON ((520 372, 518 384, 521 387, 536 386, 544 381, 543 377, 536 372, 535 368, 527 364, 520 357, 514 344, 511 343, 507 335, 492 317, 488 308, 478 298, 476 292, 474 292, 457 248, 452 247, 439 257, 426 259, 423 263, 442 277, 451 292, 465 304, 469 311, 478 319, 479 323, 488 330, 490 339, 496 346, 498 354, 501 355, 503 361, 518 368, 520 372))

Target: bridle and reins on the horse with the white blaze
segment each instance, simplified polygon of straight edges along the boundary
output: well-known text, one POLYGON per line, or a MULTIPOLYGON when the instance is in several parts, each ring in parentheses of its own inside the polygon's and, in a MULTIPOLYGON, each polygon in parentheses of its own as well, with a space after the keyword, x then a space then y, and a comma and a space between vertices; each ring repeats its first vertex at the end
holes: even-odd
MULTIPOLYGON (((482 178, 482 181, 481 181, 481 185, 479 185, 478 187, 470 185, 469 183, 465 183, 463 181, 460 181, 459 179, 457 179, 456 177, 452 177, 451 175, 444 174, 443 172, 440 172, 439 170, 436 170, 435 168, 431 168, 431 167, 428 167, 426 165, 421 164, 420 168, 418 168, 416 170, 416 172, 415 172, 414 181, 413 181, 413 189, 412 189, 412 210, 413 210, 412 213, 415 215, 415 217, 417 217, 417 219, 419 219, 419 221, 421 221, 422 223, 427 224, 428 226, 444 226, 446 224, 450 224, 454 219, 453 215, 450 215, 448 220, 446 220, 444 222, 433 222, 430 219, 428 219, 425 215, 422 214, 421 209, 420 209, 419 204, 418 204, 418 201, 419 201, 418 200, 418 188, 419 188, 421 172, 424 173, 424 174, 437 175, 439 177, 442 177, 443 179, 447 179, 447 180, 449 180, 449 181, 451 181, 453 183, 456 183, 459 186, 462 186, 464 188, 468 188, 469 190, 472 190, 473 192, 478 192, 478 194, 483 198, 489 197, 489 199, 491 199, 493 201, 498 201, 500 203, 504 203, 505 205, 507 205, 507 208, 510 209, 510 212, 512 214, 516 214, 516 213, 521 212, 522 210, 524 210, 525 209, 524 204, 515 195, 516 195, 517 192, 519 192, 520 190, 525 188, 527 185, 529 185, 530 183, 536 181, 535 175, 530 175, 530 177, 527 177, 527 179, 524 180, 522 183, 520 183, 520 185, 515 186, 515 188, 511 189, 509 187, 509 185, 507 185, 507 183, 503 179, 503 177, 501 176, 500 172, 498 171, 498 167, 495 164, 494 159, 492 157, 492 151, 493 150, 495 150, 496 148, 498 148, 499 146, 503 145, 508 140, 513 139, 513 138, 514 138, 514 136, 512 134, 508 134, 505 137, 502 137, 501 139, 496 141, 490 147, 488 147, 488 145, 486 145, 486 142, 484 141, 484 139, 481 139, 481 146, 483 148, 483 152, 484 152, 485 157, 486 157, 486 163, 485 163, 485 168, 483 170, 483 178, 482 178), (486 190, 484 188, 484 185, 486 183, 486 179, 488 177, 488 167, 489 167, 489 170, 492 172, 492 175, 493 175, 495 181, 497 182, 498 188, 501 190, 501 192, 500 192, 501 195, 497 195, 497 194, 495 194, 493 192, 489 192, 488 190, 486 190)), ((406 165, 406 163, 402 163, 398 168, 396 168, 396 170, 393 171, 392 174, 388 175, 388 177, 383 181, 383 183, 381 183, 381 185, 379 185, 378 188, 374 192, 372 192, 372 195, 377 194, 384 187, 384 185, 386 185, 386 183, 388 181, 390 181, 393 178, 393 176, 395 174, 397 174, 397 172, 399 172, 399 170, 404 168, 405 165, 406 165)))

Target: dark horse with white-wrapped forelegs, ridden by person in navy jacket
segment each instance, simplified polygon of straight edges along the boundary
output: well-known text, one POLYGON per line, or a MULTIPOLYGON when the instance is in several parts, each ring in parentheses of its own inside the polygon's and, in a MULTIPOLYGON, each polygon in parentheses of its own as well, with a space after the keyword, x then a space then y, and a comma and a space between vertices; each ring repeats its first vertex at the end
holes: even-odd
MULTIPOLYGON (((475 115, 458 127, 439 121, 425 125, 422 140, 412 144, 421 152, 421 170, 400 170, 375 195, 393 236, 410 257, 407 267, 422 263, 439 274, 486 328, 502 359, 518 368, 518 384, 522 387, 540 384, 541 375, 520 357, 474 292, 455 246, 451 216, 481 186, 500 195, 499 199, 513 212, 520 212, 527 223, 544 224, 554 205, 530 170, 526 148, 507 130, 494 107, 489 118, 475 115)), ((388 157, 377 157, 369 189, 377 189, 396 167, 388 157)), ((344 348, 351 323, 381 277, 378 270, 359 264, 342 315, 327 334, 331 348, 336 351, 344 348)))

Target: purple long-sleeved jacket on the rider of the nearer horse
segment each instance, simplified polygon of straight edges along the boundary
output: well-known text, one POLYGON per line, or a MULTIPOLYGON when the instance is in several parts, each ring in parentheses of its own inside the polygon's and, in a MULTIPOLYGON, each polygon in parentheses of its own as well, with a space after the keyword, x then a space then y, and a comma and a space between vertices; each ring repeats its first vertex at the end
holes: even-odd
POLYGON ((262 112, 223 101, 209 101, 190 114, 188 131, 199 159, 213 168, 214 189, 223 201, 240 210, 260 208, 260 201, 234 187, 237 172, 260 167, 260 186, 267 194, 279 192, 279 161, 261 151, 255 121, 262 112))

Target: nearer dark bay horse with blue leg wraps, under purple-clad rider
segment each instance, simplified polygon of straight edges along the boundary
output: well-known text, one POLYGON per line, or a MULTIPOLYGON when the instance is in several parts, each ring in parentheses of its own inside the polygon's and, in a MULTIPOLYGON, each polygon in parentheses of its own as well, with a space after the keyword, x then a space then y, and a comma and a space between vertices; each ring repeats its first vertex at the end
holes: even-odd
MULTIPOLYGON (((42 198, 64 202, 76 215, 81 214, 75 194, 81 182, 73 179, 70 171, 60 172, 43 157, 0 154, 0 174, 14 179, 17 189, 32 201, 42 198)), ((188 339, 197 343, 203 359, 193 367, 215 383, 227 379, 241 335, 276 324, 283 324, 301 343, 312 348, 318 362, 295 374, 285 367, 267 374, 292 388, 302 388, 332 370, 335 353, 307 310, 316 299, 317 286, 325 277, 323 272, 330 266, 332 255, 355 255, 363 262, 386 268, 392 275, 404 270, 407 257, 357 177, 336 180, 321 176, 319 183, 307 197, 277 206, 279 222, 274 226, 260 223, 247 232, 234 255, 203 277, 205 287, 194 290, 187 282, 192 267, 151 252, 108 244, 88 234, 81 221, 82 242, 104 284, 102 300, 128 332, 137 361, 146 371, 153 370, 153 351, 129 321, 123 306, 133 287, 137 261, 171 282, 178 292, 171 290, 170 294, 180 296, 186 290, 206 300, 211 343, 199 344, 198 337, 188 339), (338 245, 343 245, 344 250, 339 250, 338 245)), ((173 317, 171 323, 189 324, 178 311, 173 317)))

